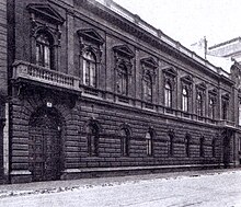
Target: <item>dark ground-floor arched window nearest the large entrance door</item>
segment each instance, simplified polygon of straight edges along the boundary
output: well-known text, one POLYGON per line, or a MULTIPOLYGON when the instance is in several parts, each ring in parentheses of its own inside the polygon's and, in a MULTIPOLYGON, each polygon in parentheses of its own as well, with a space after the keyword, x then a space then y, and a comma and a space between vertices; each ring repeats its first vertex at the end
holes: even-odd
POLYGON ((99 133, 95 125, 90 124, 87 128, 89 156, 99 156, 99 133))

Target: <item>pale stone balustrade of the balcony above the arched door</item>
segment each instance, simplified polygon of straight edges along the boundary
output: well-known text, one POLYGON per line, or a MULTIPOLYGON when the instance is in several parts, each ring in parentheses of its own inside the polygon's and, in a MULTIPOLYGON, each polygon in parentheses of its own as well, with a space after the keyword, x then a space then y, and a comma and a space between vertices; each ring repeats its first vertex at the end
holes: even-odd
POLYGON ((80 91, 80 81, 78 78, 25 61, 15 61, 13 64, 12 78, 33 80, 49 85, 80 91))

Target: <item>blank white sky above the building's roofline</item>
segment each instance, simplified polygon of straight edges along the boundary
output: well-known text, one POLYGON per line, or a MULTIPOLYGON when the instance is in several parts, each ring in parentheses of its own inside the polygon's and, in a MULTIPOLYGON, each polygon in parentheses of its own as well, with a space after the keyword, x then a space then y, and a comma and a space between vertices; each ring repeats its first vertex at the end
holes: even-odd
POLYGON ((191 48, 206 36, 208 47, 241 36, 240 0, 114 0, 191 48))

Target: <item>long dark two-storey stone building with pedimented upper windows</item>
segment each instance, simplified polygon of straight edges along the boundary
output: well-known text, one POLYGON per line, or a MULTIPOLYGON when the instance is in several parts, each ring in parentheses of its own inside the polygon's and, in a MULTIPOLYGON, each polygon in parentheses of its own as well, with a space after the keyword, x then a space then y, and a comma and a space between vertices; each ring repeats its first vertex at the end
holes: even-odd
POLYGON ((240 164, 239 64, 230 74, 110 0, 8 12, 9 182, 240 164))

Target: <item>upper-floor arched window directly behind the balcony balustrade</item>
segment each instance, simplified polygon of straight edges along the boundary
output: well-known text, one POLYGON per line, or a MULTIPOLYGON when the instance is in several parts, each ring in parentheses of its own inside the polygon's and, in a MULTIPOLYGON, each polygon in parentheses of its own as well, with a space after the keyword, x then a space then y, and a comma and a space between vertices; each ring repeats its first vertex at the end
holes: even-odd
POLYGON ((53 69, 53 41, 45 33, 36 37, 36 65, 53 69))

